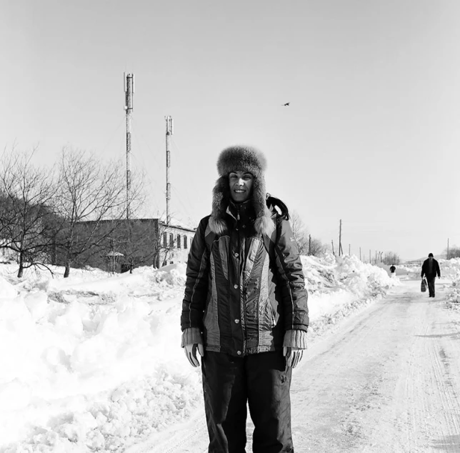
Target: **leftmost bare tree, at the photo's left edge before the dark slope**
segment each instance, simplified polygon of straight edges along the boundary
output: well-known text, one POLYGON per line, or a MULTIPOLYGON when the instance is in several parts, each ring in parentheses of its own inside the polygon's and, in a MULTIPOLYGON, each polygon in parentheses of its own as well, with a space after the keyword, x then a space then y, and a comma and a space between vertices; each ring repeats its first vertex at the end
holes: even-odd
POLYGON ((24 152, 13 147, 2 156, 0 232, 2 247, 16 253, 18 277, 28 267, 47 268, 52 242, 54 171, 32 164, 35 151, 36 148, 24 152))

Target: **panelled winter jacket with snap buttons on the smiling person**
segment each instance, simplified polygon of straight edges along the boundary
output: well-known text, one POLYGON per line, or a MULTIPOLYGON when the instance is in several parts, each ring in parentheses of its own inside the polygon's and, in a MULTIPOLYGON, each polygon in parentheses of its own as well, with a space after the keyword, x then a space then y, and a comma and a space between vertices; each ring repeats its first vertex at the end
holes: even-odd
POLYGON ((189 251, 182 304, 182 346, 234 356, 306 348, 307 292, 289 221, 272 219, 271 237, 254 229, 254 212, 228 208, 222 234, 201 219, 189 251), (287 333, 286 333, 287 332, 287 333))

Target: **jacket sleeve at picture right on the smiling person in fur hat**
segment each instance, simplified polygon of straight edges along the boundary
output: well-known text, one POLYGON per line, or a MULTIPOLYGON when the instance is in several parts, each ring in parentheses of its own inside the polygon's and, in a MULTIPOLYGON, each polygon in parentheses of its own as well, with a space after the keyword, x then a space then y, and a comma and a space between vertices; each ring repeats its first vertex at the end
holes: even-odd
MULTIPOLYGON (((304 272, 291 225, 287 220, 276 224, 276 267, 279 272, 284 306, 284 329, 306 332, 309 327, 308 293, 304 272)), ((299 332, 300 334, 300 332, 299 332)), ((303 335, 301 334, 303 337, 303 335)))

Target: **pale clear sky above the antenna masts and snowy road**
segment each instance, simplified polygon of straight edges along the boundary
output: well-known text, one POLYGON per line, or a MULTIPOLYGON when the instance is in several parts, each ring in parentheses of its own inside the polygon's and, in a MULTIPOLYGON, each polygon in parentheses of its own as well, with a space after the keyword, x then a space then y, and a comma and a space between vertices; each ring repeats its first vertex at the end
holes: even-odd
POLYGON ((219 151, 256 146, 267 190, 312 237, 363 257, 460 247, 455 0, 1 2, 0 146, 51 166, 64 146, 131 165, 166 210, 211 211, 219 151), (290 102, 289 106, 283 106, 290 102))

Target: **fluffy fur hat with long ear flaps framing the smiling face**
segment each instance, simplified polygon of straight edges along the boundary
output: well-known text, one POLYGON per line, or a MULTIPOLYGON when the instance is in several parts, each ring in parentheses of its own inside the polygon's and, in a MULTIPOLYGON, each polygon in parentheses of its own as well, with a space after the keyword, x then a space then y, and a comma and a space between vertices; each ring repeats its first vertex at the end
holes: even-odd
POLYGON ((254 176, 251 194, 251 202, 256 212, 254 228, 259 234, 273 232, 274 222, 271 220, 271 212, 266 207, 265 169, 264 154, 252 146, 229 146, 221 151, 217 159, 219 179, 213 189, 212 212, 209 219, 209 228, 212 232, 222 234, 227 228, 225 212, 230 202, 231 171, 249 171, 254 176))

